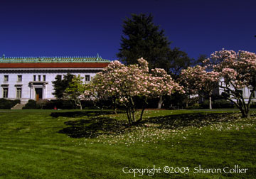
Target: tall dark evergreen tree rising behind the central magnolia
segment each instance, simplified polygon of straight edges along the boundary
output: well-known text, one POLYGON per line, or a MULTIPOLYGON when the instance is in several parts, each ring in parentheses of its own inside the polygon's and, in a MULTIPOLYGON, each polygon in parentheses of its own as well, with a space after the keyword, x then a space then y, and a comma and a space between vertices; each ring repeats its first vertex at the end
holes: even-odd
POLYGON ((154 25, 151 14, 132 14, 132 18, 124 20, 122 32, 124 36, 117 57, 124 64, 135 64, 138 58, 144 58, 149 62, 149 68, 166 69, 170 42, 164 36, 164 30, 159 30, 159 26, 154 25))

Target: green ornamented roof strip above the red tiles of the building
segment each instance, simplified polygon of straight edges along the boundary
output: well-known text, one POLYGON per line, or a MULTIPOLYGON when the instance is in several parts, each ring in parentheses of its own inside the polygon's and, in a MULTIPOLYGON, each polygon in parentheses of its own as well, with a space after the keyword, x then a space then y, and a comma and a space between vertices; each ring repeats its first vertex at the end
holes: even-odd
POLYGON ((110 63, 100 57, 99 54, 94 57, 0 57, 0 63, 110 63))

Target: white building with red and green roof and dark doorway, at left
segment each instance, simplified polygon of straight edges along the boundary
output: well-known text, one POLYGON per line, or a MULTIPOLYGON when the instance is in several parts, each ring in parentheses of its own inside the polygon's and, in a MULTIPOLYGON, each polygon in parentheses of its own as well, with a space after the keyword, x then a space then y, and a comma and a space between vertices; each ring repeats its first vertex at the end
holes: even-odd
POLYGON ((0 98, 55 99, 53 81, 67 73, 84 77, 85 82, 107 67, 110 60, 95 57, 0 57, 0 98))

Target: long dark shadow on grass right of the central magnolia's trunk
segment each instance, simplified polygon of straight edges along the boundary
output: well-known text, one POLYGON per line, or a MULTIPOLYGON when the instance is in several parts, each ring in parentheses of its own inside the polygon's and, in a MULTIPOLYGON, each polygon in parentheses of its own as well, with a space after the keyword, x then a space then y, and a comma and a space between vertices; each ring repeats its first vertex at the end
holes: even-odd
POLYGON ((219 122, 228 122, 238 119, 238 113, 193 113, 169 116, 156 116, 142 121, 143 123, 159 124, 159 129, 178 129, 186 126, 208 126, 219 122))

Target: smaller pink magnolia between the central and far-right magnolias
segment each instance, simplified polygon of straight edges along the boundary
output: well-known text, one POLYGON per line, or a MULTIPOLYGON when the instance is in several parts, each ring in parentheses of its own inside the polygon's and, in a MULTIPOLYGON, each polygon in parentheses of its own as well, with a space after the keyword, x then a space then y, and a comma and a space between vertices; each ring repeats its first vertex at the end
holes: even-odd
POLYGON ((197 65, 182 70, 180 82, 187 96, 198 94, 201 97, 209 98, 209 109, 212 109, 211 97, 213 89, 218 87, 218 77, 218 72, 208 72, 206 67, 197 65))

